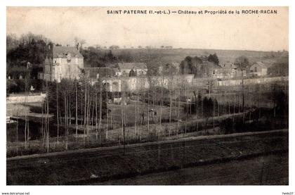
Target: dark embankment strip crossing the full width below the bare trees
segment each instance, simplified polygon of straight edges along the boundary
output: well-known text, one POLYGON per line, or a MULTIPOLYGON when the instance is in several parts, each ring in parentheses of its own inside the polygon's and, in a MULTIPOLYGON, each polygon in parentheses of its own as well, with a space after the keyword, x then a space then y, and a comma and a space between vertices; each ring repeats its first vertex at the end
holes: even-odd
POLYGON ((230 150, 235 156, 240 156, 242 151, 237 151, 235 147, 237 143, 240 145, 251 145, 258 141, 282 141, 287 143, 287 131, 263 132, 261 134, 245 134, 235 137, 216 137, 213 139, 183 139, 178 141, 159 141, 145 144, 134 144, 124 146, 115 146, 105 149, 90 149, 84 151, 73 151, 63 153, 49 153, 36 156, 22 156, 20 158, 7 158, 6 168, 8 170, 17 168, 32 168, 54 163, 67 163, 68 161, 87 161, 93 158, 104 158, 106 156, 122 156, 146 153, 151 151, 159 151, 164 153, 171 149, 183 149, 188 151, 194 147, 220 147, 221 149, 230 150))

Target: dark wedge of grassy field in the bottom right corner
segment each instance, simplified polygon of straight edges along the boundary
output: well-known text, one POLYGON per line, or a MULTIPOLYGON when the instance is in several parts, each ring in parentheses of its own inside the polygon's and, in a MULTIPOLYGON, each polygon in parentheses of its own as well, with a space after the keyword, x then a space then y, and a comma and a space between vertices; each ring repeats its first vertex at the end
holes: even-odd
POLYGON ((288 153, 277 153, 181 170, 156 172, 96 185, 287 185, 288 153), (245 168, 247 167, 247 169, 245 168), (263 168, 267 171, 263 172, 263 168), (263 174, 263 175, 261 175, 263 174), (263 177, 261 177, 263 176, 263 177))

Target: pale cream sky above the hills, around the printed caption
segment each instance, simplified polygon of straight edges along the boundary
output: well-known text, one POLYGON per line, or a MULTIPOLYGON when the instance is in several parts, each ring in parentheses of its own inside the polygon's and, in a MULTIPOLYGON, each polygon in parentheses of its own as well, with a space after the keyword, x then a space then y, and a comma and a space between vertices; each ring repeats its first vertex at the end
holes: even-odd
POLYGON ((192 49, 289 50, 287 7, 8 7, 6 33, 43 34, 85 46, 173 46, 192 49), (107 11, 276 10, 277 14, 107 14, 107 11))

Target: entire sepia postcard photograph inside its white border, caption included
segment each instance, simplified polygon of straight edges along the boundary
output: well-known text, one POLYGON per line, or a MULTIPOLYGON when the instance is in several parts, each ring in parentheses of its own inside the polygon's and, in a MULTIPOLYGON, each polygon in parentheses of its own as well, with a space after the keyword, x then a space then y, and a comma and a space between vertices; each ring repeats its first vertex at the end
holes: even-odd
POLYGON ((289 186, 289 7, 7 6, 6 185, 289 186))

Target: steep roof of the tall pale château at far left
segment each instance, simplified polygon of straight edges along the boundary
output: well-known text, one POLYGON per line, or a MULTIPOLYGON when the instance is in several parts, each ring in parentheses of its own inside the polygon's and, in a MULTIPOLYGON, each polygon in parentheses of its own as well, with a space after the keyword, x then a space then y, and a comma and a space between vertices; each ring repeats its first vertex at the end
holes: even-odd
POLYGON ((53 45, 53 58, 67 58, 67 54, 71 54, 72 57, 83 58, 81 53, 74 46, 53 45))

